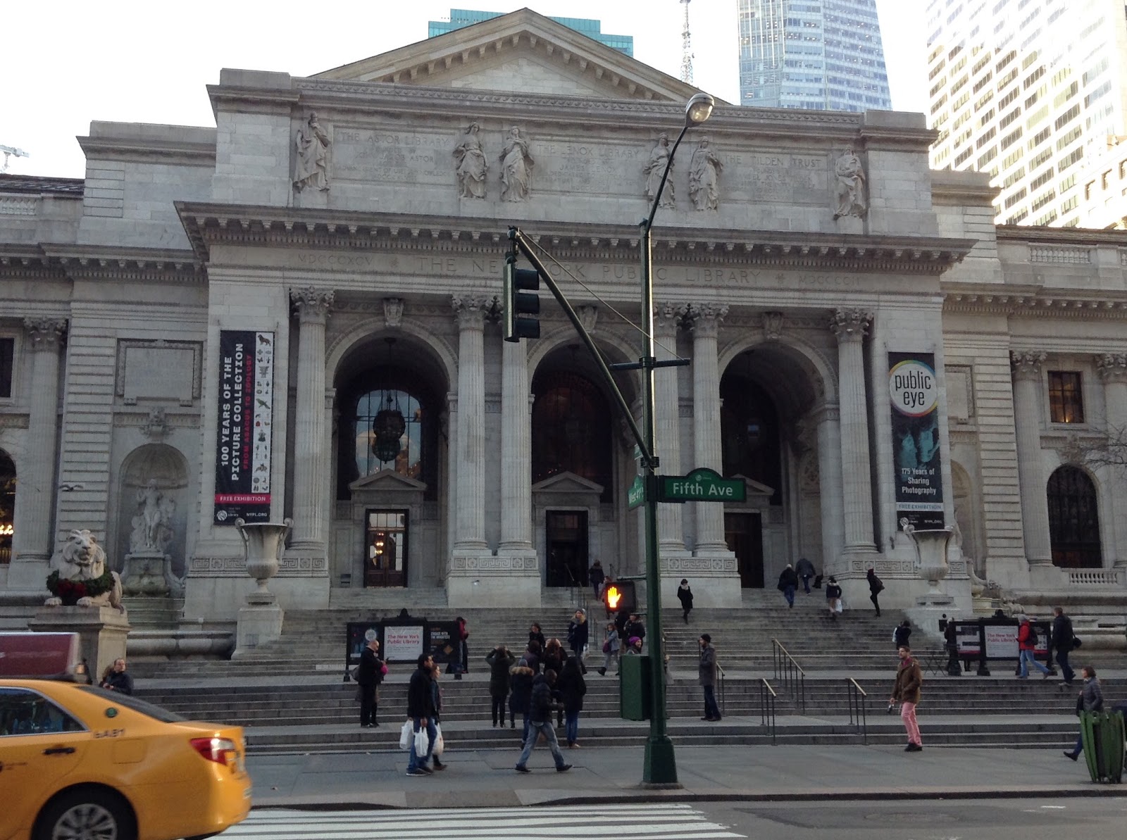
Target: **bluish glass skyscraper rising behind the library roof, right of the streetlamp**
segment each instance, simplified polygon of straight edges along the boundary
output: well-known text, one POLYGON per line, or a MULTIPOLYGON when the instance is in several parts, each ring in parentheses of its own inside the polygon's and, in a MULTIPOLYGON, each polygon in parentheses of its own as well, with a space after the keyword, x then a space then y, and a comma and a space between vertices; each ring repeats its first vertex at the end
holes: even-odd
POLYGON ((876 0, 738 0, 739 104, 890 109, 876 0))

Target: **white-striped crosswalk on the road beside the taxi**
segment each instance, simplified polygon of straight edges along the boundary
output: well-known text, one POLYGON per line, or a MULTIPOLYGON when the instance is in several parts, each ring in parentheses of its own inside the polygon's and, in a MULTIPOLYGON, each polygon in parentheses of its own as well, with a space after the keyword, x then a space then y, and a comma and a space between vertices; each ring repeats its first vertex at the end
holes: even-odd
POLYGON ((223 837, 260 840, 523 840, 583 837, 621 840, 735 840, 744 838, 711 822, 691 805, 596 805, 575 812, 539 808, 412 808, 410 811, 254 811, 223 837))

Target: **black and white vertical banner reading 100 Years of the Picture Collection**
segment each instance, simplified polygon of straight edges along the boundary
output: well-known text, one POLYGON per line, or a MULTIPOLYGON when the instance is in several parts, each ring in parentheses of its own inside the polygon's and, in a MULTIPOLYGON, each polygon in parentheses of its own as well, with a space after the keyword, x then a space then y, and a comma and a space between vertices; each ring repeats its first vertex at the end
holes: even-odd
POLYGON ((214 521, 268 521, 274 333, 220 331, 218 387, 214 521))

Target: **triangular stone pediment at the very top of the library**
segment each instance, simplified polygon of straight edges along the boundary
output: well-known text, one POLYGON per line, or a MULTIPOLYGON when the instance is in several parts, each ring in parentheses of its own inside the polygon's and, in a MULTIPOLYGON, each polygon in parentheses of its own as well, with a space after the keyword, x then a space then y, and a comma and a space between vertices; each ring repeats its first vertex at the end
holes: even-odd
POLYGON ((685 101, 696 88, 531 9, 318 73, 506 93, 685 101))

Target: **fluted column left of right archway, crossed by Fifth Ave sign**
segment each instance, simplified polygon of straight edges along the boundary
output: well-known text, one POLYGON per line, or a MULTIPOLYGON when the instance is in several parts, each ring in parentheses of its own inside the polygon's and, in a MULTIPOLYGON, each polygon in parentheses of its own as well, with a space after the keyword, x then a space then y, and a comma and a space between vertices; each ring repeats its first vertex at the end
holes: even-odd
MULTIPOLYGON (((720 441, 720 365, 717 334, 728 314, 722 304, 701 303, 689 307, 693 331, 693 464, 724 473, 720 441)), ((724 506, 717 502, 690 502, 696 508, 696 547, 694 554, 728 554, 724 539, 724 506)))

